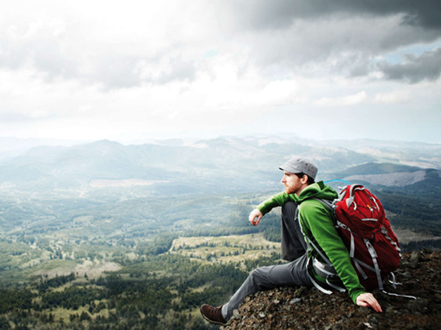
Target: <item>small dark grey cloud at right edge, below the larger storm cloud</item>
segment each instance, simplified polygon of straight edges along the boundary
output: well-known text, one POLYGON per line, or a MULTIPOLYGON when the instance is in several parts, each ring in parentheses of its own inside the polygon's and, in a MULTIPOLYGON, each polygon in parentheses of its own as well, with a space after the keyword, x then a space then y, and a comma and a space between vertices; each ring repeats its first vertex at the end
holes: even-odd
POLYGON ((411 84, 424 79, 434 81, 440 77, 441 48, 425 51, 420 56, 406 55, 406 59, 403 64, 382 62, 378 64, 378 68, 387 79, 407 81, 411 84))

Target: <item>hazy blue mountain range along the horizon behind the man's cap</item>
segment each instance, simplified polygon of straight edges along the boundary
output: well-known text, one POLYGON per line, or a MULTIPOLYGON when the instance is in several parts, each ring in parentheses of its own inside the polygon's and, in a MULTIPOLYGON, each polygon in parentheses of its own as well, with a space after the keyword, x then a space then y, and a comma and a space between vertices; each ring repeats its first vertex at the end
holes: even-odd
POLYGON ((88 190, 97 182, 101 187, 124 187, 130 182, 179 193, 271 189, 280 187, 278 165, 294 155, 315 161, 318 179, 348 178, 374 185, 404 187, 425 180, 427 169, 441 168, 441 145, 429 143, 228 137, 126 146, 102 140, 70 147, 38 146, 0 157, 0 191, 88 190))

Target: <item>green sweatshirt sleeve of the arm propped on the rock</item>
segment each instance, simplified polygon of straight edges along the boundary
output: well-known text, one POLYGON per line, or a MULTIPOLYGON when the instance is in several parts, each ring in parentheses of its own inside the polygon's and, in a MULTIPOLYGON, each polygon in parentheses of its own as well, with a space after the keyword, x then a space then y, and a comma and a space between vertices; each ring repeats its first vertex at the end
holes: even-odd
POLYGON ((310 200, 300 204, 299 213, 305 235, 310 239, 314 238, 325 252, 355 303, 357 296, 366 290, 360 284, 358 275, 351 264, 348 249, 333 226, 329 210, 320 202, 310 200))

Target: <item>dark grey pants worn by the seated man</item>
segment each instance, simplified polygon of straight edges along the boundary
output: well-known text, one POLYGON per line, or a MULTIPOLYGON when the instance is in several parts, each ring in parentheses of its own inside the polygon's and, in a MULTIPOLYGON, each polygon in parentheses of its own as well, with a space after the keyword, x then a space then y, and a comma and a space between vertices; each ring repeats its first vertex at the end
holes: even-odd
POLYGON ((245 297, 260 290, 277 286, 312 286, 306 270, 306 243, 294 214, 297 205, 286 202, 282 207, 282 259, 291 262, 282 265, 264 266, 250 272, 242 286, 222 306, 222 316, 228 320, 245 297))

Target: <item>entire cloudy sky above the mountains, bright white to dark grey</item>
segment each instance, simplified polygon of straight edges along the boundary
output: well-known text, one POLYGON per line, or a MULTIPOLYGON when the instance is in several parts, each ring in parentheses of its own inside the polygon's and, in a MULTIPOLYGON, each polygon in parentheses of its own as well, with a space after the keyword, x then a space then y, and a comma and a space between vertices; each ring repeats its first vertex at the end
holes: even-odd
POLYGON ((10 1, 0 136, 441 143, 439 0, 10 1))

